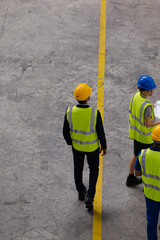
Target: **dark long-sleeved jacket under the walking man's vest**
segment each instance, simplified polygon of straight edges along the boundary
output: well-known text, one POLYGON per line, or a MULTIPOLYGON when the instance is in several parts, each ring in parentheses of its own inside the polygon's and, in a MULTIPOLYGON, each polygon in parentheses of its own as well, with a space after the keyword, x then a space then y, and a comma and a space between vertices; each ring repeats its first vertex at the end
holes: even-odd
MULTIPOLYGON (((76 107, 87 108, 87 107, 89 107, 89 105, 78 104, 76 107)), ((97 110, 96 131, 97 131, 98 139, 99 139, 100 144, 101 144, 101 148, 106 150, 107 149, 107 142, 106 142, 106 137, 105 137, 105 133, 104 133, 102 118, 101 118, 101 114, 100 114, 99 110, 97 110)), ((66 140, 66 143, 68 145, 72 145, 70 128, 69 128, 69 123, 67 121, 67 115, 66 114, 64 116, 63 136, 64 136, 64 139, 66 140)))

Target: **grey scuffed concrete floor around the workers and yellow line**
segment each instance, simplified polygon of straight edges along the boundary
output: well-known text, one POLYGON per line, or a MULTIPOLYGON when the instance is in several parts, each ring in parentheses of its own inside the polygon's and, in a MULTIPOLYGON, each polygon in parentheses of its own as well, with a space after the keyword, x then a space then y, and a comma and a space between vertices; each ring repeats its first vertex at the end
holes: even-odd
MULTIPOLYGON (((159 11, 159 0, 107 0, 102 240, 146 239, 142 186, 125 186, 128 105, 142 74, 160 99, 159 11)), ((92 239, 62 126, 77 84, 96 107, 99 19, 100 0, 0 0, 0 240, 92 239)))

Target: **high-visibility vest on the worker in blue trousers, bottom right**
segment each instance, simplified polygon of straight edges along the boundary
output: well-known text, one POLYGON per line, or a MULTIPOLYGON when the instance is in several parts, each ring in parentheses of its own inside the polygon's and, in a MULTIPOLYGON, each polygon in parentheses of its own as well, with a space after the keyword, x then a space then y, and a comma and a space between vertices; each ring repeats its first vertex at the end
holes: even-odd
POLYGON ((145 196, 160 202, 160 152, 149 148, 142 150, 139 163, 145 196))

